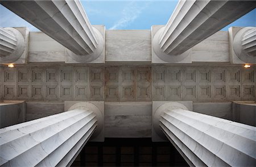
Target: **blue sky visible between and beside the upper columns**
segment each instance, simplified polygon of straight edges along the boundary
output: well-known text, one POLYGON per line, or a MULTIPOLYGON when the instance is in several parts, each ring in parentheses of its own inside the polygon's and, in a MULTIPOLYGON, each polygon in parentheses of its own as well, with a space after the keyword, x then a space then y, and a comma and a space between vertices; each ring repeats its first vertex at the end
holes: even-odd
MULTIPOLYGON (((177 1, 81 1, 92 24, 104 24, 107 30, 146 30, 168 22, 177 1)), ((1 27, 28 27, 25 20, 0 5, 1 27)), ((256 26, 256 9, 222 28, 256 26)))

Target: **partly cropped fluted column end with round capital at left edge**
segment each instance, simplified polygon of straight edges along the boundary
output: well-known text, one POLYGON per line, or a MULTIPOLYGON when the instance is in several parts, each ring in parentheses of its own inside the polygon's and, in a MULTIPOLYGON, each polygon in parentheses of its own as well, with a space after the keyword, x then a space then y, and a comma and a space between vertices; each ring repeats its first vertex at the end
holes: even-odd
POLYGON ((0 27, 0 64, 18 60, 24 49, 24 37, 18 30, 0 27))

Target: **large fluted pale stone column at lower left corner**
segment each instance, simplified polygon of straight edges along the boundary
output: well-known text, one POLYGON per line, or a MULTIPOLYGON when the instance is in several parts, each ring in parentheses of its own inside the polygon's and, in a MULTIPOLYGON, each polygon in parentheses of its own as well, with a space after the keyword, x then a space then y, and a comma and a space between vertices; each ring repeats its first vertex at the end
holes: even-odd
POLYGON ((70 110, 0 129, 0 166, 70 166, 103 119, 92 103, 70 110))

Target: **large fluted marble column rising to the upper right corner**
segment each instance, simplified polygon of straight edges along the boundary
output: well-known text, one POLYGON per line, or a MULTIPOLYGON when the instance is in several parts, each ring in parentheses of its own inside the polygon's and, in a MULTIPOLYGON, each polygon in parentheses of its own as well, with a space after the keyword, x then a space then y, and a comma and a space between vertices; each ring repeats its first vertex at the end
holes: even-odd
POLYGON ((154 35, 156 56, 177 62, 188 49, 253 10, 253 1, 179 1, 166 26, 154 35))

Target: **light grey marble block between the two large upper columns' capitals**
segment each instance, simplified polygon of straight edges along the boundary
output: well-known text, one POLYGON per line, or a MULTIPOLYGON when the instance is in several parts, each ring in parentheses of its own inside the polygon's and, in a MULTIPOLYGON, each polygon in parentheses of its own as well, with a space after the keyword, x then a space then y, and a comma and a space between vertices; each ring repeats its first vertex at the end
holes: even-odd
POLYGON ((151 36, 149 30, 106 31, 106 63, 150 63, 151 36))

